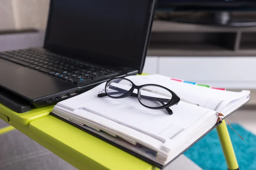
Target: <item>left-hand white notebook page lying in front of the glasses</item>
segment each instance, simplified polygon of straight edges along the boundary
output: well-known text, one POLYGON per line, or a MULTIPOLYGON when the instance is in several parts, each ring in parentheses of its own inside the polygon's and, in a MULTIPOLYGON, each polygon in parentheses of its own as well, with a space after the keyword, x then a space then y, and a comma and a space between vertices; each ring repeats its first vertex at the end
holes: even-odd
POLYGON ((106 96, 99 98, 97 95, 101 91, 102 86, 98 86, 89 93, 82 94, 83 97, 79 95, 80 97, 71 98, 73 101, 68 99, 60 103, 73 108, 74 112, 83 109, 98 114, 163 142, 182 133, 202 115, 209 112, 208 109, 180 102, 171 107, 173 115, 169 115, 165 109, 145 108, 134 97, 112 99, 106 96))

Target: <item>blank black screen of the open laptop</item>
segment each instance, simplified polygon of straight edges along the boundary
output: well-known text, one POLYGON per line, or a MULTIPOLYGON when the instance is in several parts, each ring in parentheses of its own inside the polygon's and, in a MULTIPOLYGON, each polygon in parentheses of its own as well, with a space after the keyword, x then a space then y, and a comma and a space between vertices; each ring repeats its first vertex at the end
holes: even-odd
POLYGON ((52 0, 45 48, 142 70, 152 0, 52 0))

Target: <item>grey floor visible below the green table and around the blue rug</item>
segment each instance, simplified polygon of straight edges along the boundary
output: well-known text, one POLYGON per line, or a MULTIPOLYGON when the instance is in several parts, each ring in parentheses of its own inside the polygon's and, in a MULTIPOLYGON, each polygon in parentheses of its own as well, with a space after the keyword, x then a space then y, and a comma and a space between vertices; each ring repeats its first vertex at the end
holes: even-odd
MULTIPOLYGON (((229 116, 256 134, 256 110, 240 110, 229 116)), ((0 120, 0 128, 7 124, 0 120)), ((76 170, 49 150, 17 130, 0 136, 0 170, 76 170), (40 160, 40 161, 38 161, 40 160)), ((193 161, 182 155, 164 170, 202 170, 193 161)))

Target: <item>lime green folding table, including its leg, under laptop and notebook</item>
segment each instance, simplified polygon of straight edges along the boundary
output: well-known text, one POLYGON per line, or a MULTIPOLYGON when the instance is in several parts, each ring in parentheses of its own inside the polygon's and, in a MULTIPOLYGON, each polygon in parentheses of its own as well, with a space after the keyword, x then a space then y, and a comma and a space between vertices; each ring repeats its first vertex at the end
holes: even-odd
MULTIPOLYGON (((49 115, 53 106, 16 113, 0 104, 0 119, 78 169, 159 170, 159 168, 49 115)), ((1 130, 0 130, 1 131, 1 130)), ((239 166, 225 121, 217 127, 229 170, 239 166)))

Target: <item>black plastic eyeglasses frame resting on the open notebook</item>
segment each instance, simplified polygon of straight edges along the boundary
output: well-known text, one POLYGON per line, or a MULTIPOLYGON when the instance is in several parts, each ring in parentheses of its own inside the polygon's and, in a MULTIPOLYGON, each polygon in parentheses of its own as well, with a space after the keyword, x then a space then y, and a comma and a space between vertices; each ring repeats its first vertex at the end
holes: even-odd
MULTIPOLYGON (((124 90, 124 91, 126 91, 126 90, 124 90)), ((104 93, 104 94, 98 94, 98 97, 103 97, 103 96, 109 96, 109 97, 111 97, 111 98, 113 98, 113 99, 121 99, 121 98, 125 98, 125 97, 128 97, 128 96, 137 97, 137 98, 138 98, 138 101, 140 102, 140 104, 143 105, 144 107, 150 108, 150 109, 155 109, 155 110, 157 110, 157 109, 166 109, 166 111, 167 111, 170 115, 171 115, 173 112, 172 112, 172 110, 171 110, 169 107, 171 107, 171 106, 173 106, 173 105, 177 105, 178 102, 180 102, 180 97, 179 97, 177 94, 175 94, 173 91, 171 91, 170 89, 168 89, 168 88, 166 88, 166 87, 163 87, 163 86, 161 86, 161 85, 156 85, 156 84, 145 84, 145 85, 139 85, 139 86, 138 86, 138 85, 135 85, 131 80, 126 79, 126 78, 112 78, 112 79, 109 79, 109 80, 106 82, 106 85, 105 85, 105 93, 104 93), (116 89, 117 92, 107 92, 107 87, 108 87, 109 83, 110 83, 111 81, 113 81, 114 79, 125 79, 125 80, 131 82, 131 84, 132 84, 131 89, 130 89, 129 91, 127 91, 125 94, 123 94, 122 96, 116 96, 116 97, 111 96, 111 95, 113 95, 113 94, 119 94, 120 91, 124 90, 124 89, 121 89, 121 88, 112 86, 111 89, 113 89, 113 90, 116 89), (140 90, 141 90, 141 88, 146 87, 146 86, 156 86, 156 87, 163 88, 163 89, 169 91, 169 92, 172 94, 172 98, 171 98, 171 99, 164 99, 164 98, 158 98, 158 97, 143 96, 143 95, 140 94, 140 90), (138 90, 138 93, 137 93, 137 94, 136 94, 136 93, 133 93, 134 89, 137 89, 137 90, 138 90), (111 93, 111 94, 109 94, 109 93, 111 93), (160 102, 162 106, 160 106, 160 107, 150 107, 150 106, 144 105, 144 104, 140 101, 140 98, 141 98, 141 99, 147 99, 147 100, 150 100, 150 101, 160 102), (165 104, 164 102, 166 102, 166 104, 165 104)))

